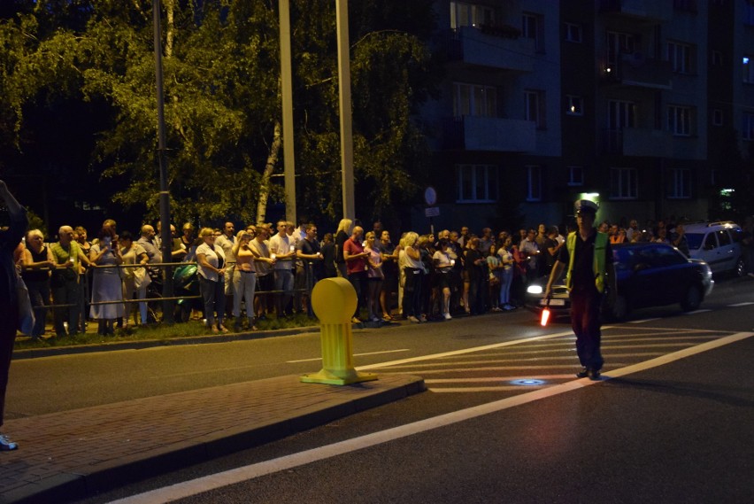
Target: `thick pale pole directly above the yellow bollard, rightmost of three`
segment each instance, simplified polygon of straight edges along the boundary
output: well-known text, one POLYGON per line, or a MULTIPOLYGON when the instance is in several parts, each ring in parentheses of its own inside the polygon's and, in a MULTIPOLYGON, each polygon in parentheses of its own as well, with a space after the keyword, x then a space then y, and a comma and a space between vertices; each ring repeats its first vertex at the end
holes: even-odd
POLYGON ((343 218, 356 217, 353 195, 353 128, 350 104, 350 50, 348 37, 348 0, 335 0, 338 26, 338 90, 341 112, 341 169, 343 218))

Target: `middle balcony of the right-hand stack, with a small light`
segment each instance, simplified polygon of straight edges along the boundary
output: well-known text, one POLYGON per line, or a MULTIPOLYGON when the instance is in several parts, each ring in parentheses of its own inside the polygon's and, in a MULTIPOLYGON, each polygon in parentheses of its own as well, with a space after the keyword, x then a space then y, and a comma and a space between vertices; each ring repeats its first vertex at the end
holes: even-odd
POLYGON ((673 89, 673 69, 669 61, 645 58, 642 52, 619 54, 618 58, 605 58, 602 68, 603 82, 623 86, 673 89), (609 63, 611 59, 615 63, 609 63))

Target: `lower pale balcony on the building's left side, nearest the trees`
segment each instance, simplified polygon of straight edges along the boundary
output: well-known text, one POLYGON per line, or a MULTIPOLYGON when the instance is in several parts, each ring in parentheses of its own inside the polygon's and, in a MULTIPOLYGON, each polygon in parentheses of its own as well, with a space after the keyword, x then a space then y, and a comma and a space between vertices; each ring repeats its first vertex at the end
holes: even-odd
POLYGON ((465 151, 535 151, 535 128, 531 120, 466 115, 445 121, 443 147, 465 151))

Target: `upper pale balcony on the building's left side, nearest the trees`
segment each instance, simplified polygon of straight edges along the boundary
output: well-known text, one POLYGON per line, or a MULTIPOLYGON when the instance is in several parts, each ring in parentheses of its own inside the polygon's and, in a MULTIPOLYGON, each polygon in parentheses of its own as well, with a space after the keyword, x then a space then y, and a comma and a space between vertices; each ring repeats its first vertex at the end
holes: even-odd
POLYGON ((534 69, 535 41, 520 37, 513 27, 459 27, 446 33, 444 43, 451 61, 518 72, 534 69))

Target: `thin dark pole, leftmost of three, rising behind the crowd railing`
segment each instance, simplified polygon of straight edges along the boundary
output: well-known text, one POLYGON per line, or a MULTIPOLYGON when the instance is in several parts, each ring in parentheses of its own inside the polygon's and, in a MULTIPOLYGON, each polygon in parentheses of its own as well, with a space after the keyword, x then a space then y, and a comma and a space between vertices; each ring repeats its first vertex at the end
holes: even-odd
MULTIPOLYGON (((159 221, 162 228, 163 261, 169 262, 173 252, 173 236, 170 233, 170 192, 167 187, 167 162, 165 160, 165 97, 163 96, 162 76, 162 32, 160 30, 159 0, 152 0, 152 22, 154 25, 155 81, 158 101, 158 159, 159 159, 159 221)), ((173 268, 163 270, 162 307, 163 321, 173 323, 173 268)))

